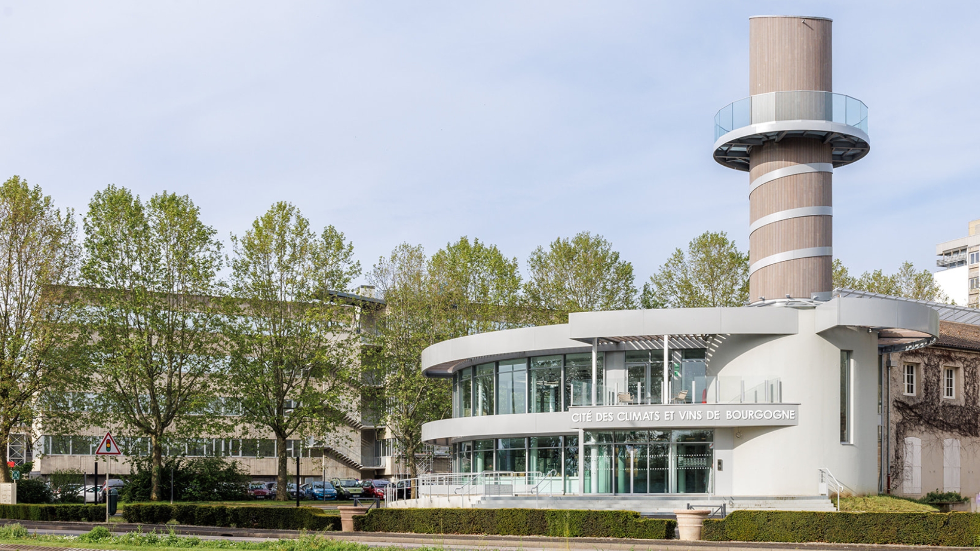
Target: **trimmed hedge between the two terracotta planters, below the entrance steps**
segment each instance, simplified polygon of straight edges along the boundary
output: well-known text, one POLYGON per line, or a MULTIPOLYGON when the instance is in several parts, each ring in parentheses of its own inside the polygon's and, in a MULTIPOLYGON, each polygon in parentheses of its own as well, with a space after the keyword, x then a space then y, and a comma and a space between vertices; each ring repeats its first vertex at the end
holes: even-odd
POLYGON ((643 519, 635 511, 371 509, 354 517, 355 530, 413 533, 670 539, 675 526, 676 521, 643 519))

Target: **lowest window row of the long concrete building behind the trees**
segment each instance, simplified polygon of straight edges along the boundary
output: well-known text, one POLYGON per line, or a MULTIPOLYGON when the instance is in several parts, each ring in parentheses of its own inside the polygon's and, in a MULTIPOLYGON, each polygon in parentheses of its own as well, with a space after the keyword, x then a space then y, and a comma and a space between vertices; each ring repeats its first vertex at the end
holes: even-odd
MULTIPOLYGON (((102 436, 45 435, 42 436, 45 455, 95 455, 102 436)), ((117 436, 124 455, 150 455, 150 439, 117 436)), ((275 440, 269 438, 172 438, 164 444, 164 455, 170 457, 278 457, 275 440)), ((288 457, 322 457, 322 449, 303 446, 300 440, 286 440, 288 457)))

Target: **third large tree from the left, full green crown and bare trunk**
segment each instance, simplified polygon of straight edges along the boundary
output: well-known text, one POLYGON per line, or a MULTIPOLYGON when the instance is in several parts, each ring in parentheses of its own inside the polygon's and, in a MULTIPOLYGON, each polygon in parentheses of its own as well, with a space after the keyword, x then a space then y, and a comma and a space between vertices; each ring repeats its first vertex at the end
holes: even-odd
POLYGON ((286 440, 324 439, 357 401, 357 313, 328 291, 346 290, 361 267, 343 233, 331 225, 318 236, 283 202, 232 243, 231 387, 241 421, 275 436, 278 487, 285 488, 286 440))

